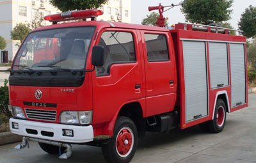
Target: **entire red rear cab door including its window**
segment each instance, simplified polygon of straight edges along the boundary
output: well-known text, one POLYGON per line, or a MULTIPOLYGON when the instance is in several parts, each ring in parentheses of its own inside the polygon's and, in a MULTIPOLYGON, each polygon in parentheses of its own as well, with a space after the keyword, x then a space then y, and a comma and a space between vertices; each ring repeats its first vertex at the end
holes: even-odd
POLYGON ((141 31, 145 63, 146 114, 173 111, 176 100, 176 70, 170 33, 141 31))

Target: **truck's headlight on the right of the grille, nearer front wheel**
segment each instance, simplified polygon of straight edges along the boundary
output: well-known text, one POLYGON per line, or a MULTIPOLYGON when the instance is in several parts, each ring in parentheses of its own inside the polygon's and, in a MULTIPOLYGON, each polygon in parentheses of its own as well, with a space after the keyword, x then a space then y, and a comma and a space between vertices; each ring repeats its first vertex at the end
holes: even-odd
POLYGON ((63 111, 60 123, 86 125, 92 123, 92 111, 63 111))

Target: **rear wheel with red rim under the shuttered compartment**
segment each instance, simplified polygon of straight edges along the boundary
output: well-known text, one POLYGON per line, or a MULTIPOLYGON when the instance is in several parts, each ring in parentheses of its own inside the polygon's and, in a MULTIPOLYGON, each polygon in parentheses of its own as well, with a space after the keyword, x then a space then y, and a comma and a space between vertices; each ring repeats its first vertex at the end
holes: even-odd
POLYGON ((213 120, 209 121, 209 128, 212 133, 219 133, 223 130, 226 122, 227 108, 223 100, 218 99, 214 111, 213 120))

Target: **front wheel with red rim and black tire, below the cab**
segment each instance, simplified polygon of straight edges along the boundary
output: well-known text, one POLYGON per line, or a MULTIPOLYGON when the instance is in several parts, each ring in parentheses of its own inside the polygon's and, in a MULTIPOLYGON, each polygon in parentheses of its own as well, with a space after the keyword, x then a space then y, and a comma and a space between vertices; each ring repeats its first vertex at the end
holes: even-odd
POLYGON ((116 120, 113 137, 108 144, 102 144, 101 149, 104 158, 109 163, 127 163, 134 156, 137 145, 136 125, 130 118, 120 116, 116 120), (122 142, 122 146, 120 146, 120 142, 122 142))

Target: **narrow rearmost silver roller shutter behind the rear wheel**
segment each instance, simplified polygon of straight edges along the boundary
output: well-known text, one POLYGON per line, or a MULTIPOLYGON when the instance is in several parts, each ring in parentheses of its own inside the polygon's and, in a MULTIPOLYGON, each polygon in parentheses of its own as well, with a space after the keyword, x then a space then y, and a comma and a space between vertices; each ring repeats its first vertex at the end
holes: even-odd
POLYGON ((245 61, 244 44, 230 43, 231 105, 245 103, 245 61))

